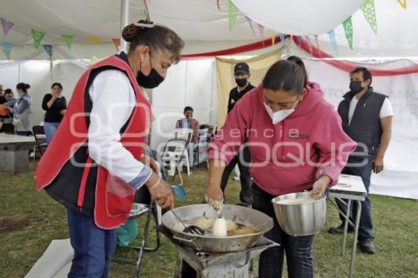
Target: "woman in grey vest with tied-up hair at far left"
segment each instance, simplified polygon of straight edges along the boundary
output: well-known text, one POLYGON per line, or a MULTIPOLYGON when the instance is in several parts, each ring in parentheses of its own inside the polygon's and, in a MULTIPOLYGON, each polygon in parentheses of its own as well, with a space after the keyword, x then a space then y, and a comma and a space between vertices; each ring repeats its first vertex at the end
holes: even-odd
POLYGON ((16 135, 29 136, 31 134, 32 98, 28 92, 29 88, 29 84, 18 83, 16 91, 19 98, 4 103, 4 105, 9 107, 10 112, 13 113, 16 135))

